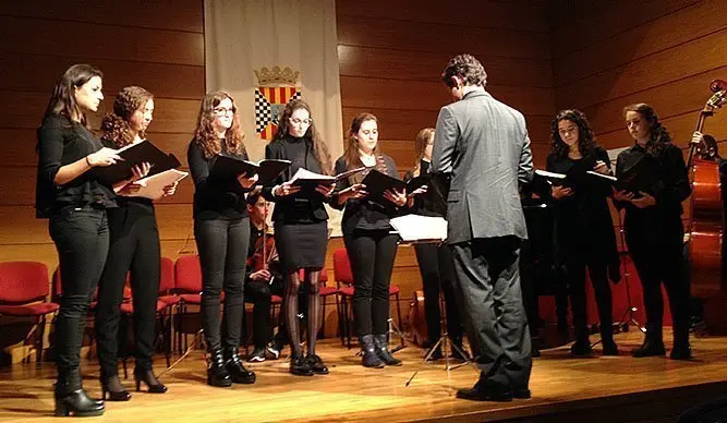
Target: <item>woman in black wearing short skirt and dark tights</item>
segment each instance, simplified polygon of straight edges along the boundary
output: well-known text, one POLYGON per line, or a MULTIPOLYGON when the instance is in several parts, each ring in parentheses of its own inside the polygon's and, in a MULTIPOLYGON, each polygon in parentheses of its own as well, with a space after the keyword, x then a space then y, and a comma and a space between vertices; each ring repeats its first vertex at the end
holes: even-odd
POLYGON ((266 200, 275 202, 272 221, 275 243, 280 265, 286 275, 283 315, 290 336, 290 372, 311 376, 328 374, 328 367, 315 352, 318 321, 320 319, 320 295, 318 277, 326 259, 328 245, 328 214, 324 203, 330 201, 332 188, 319 185, 312 195, 304 196, 290 179, 299 169, 330 174, 330 154, 320 140, 311 118, 310 106, 302 100, 286 105, 278 132, 265 147, 265 158, 286 159, 292 165, 274 182, 263 189, 266 200), (300 269, 305 269, 308 293, 307 354, 301 349, 299 313, 300 269))

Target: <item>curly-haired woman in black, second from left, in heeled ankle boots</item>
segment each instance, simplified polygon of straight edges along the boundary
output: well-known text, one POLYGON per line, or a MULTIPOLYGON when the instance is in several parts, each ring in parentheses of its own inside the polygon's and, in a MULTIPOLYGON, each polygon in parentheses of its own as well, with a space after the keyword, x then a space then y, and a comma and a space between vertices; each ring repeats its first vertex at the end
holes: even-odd
MULTIPOLYGON (((152 123, 154 96, 138 86, 129 86, 113 101, 113 111, 101 121, 101 141, 109 148, 118 149, 146 140, 152 123)), ((148 164, 134 169, 136 178, 148 173, 148 164)), ((134 378, 136 390, 144 382, 152 394, 163 394, 167 387, 154 375, 154 329, 157 298, 161 277, 161 250, 159 229, 149 198, 130 196, 138 190, 134 182, 123 184, 117 191, 119 208, 109 210, 110 247, 106 266, 98 285, 96 309, 96 341, 101 367, 101 391, 110 401, 128 401, 131 395, 119 380, 119 306, 123 301, 126 273, 131 274, 134 293, 134 378)), ((177 183, 165 188, 165 195, 172 195, 177 183)))

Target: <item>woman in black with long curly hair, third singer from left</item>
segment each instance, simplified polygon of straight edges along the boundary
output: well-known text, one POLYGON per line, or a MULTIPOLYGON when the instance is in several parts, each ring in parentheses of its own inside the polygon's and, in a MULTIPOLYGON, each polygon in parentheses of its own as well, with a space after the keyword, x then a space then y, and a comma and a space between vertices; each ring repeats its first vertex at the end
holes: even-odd
POLYGON ((234 100, 225 92, 207 94, 202 100, 195 137, 187 149, 194 180, 194 238, 202 266, 202 328, 207 342, 207 384, 227 387, 252 384, 238 355, 244 313, 243 287, 250 243, 250 218, 245 194, 257 176, 243 173, 218 179, 210 173, 220 154, 247 159, 244 133, 234 100), (222 331, 219 305, 225 290, 222 331))

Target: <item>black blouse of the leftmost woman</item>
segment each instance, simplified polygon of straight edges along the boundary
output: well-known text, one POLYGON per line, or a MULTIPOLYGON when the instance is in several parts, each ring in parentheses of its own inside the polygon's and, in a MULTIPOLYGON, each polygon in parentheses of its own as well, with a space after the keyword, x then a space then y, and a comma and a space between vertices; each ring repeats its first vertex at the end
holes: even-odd
POLYGON ((117 206, 113 189, 96 180, 93 169, 62 185, 54 182, 61 167, 81 160, 102 147, 101 141, 81 123, 61 114, 46 117, 38 129, 36 217, 49 218, 65 206, 117 206))

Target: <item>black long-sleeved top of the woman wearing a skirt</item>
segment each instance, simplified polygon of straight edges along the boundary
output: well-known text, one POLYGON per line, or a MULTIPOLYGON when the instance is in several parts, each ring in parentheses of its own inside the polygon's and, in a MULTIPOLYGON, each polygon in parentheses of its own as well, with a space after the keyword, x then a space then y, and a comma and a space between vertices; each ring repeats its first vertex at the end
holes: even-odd
POLYGON ((317 223, 328 220, 328 213, 326 213, 324 206, 327 198, 323 194, 315 193, 310 198, 299 194, 284 197, 272 195, 275 185, 291 180, 300 168, 323 173, 320 164, 318 164, 313 153, 313 141, 311 138, 296 138, 287 135, 283 138, 276 140, 265 147, 265 158, 292 161, 292 165, 271 185, 263 188, 263 197, 275 203, 272 221, 276 223, 317 223))

